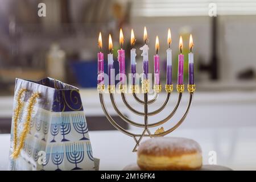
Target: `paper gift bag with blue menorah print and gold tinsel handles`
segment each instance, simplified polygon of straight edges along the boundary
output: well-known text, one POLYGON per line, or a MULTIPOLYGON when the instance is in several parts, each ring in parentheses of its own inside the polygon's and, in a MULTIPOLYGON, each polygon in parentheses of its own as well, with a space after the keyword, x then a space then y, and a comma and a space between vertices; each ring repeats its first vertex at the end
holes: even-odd
POLYGON ((9 168, 95 170, 79 89, 16 79, 9 168))

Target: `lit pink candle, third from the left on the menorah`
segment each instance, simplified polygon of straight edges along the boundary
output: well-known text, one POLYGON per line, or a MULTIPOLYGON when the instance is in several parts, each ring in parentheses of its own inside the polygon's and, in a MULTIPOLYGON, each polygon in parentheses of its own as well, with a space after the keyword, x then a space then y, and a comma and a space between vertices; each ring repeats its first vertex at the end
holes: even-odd
POLYGON ((120 28, 120 34, 119 34, 119 44, 121 46, 121 49, 119 49, 118 52, 118 62, 119 62, 119 81, 121 85, 126 84, 126 76, 125 76, 125 50, 123 50, 123 31, 122 28, 120 28))

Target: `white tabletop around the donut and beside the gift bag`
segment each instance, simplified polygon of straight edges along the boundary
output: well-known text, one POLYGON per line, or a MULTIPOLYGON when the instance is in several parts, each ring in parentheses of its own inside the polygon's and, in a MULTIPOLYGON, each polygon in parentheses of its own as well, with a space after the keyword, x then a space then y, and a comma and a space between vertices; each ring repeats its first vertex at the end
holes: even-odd
MULTIPOLYGON (((133 138, 119 131, 90 131, 93 155, 100 158, 100 170, 121 170, 135 163, 133 138)), ((208 164, 209 151, 216 151, 217 164, 240 170, 256 170, 256 127, 225 129, 183 129, 182 126, 169 136, 196 140, 203 150, 203 163, 208 164)), ((0 169, 7 170, 10 135, 0 135, 0 169)))

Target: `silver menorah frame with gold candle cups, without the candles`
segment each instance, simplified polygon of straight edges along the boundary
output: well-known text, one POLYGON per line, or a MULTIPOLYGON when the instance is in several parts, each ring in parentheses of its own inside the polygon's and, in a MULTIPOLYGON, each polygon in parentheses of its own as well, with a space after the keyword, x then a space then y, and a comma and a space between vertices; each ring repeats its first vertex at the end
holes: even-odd
POLYGON ((150 127, 156 127, 156 126, 160 126, 163 125, 163 123, 166 123, 167 121, 169 121, 175 114, 176 110, 178 109, 179 105, 180 105, 180 101, 181 101, 181 97, 182 94, 184 92, 184 85, 177 85, 177 92, 179 93, 178 99, 177 99, 177 103, 174 107, 174 110, 171 111, 171 113, 164 119, 162 119, 161 121, 158 122, 154 122, 154 123, 148 123, 148 117, 155 115, 155 114, 159 114, 167 105, 168 101, 170 100, 170 96, 173 90, 173 85, 166 85, 166 100, 164 101, 163 105, 159 107, 159 109, 156 109, 155 111, 148 111, 148 105, 154 103, 157 98, 159 93, 162 90, 162 86, 161 85, 154 85, 154 92, 155 92, 155 96, 154 98, 152 98, 152 100, 148 100, 148 90, 149 90, 149 80, 142 80, 142 94, 144 96, 144 99, 141 100, 138 97, 137 91, 138 91, 138 87, 139 85, 131 85, 131 93, 133 94, 134 99, 141 105, 144 105, 144 111, 137 111, 135 110, 132 106, 130 106, 128 104, 128 101, 126 99, 126 92, 127 92, 127 86, 126 85, 119 85, 119 91, 121 93, 122 96, 122 100, 123 103, 127 106, 127 108, 129 110, 131 110, 134 114, 140 115, 142 117, 144 117, 144 123, 138 123, 138 122, 134 122, 131 121, 129 118, 127 118, 125 115, 122 114, 122 112, 118 109, 117 104, 115 104, 115 99, 114 99, 114 93, 115 93, 115 85, 108 85, 108 93, 110 96, 110 100, 112 102, 112 105, 114 107, 114 110, 117 112, 117 114, 119 115, 119 117, 121 117, 123 119, 123 121, 129 123, 130 125, 133 126, 137 126, 137 127, 142 127, 144 130, 141 134, 134 134, 131 133, 130 131, 127 131, 125 129, 123 129, 121 126, 119 126, 117 124, 117 122, 114 121, 114 119, 110 116, 110 114, 108 113, 108 110, 106 109, 106 105, 104 102, 104 90, 105 90, 105 85, 98 85, 97 89, 98 89, 98 93, 100 95, 100 102, 101 102, 101 106, 102 109, 104 111, 104 114, 106 115, 106 117, 108 118, 109 122, 112 123, 112 125, 119 131, 122 131, 122 133, 132 137, 136 144, 135 147, 133 148, 133 152, 137 151, 137 147, 139 146, 139 143, 141 142, 143 137, 163 137, 164 135, 167 135, 169 133, 171 133, 172 131, 174 131, 175 129, 177 129, 177 127, 179 127, 181 125, 181 123, 185 120, 185 118, 187 117, 189 108, 191 107, 191 103, 192 103, 192 98, 193 98, 193 93, 195 92, 196 89, 196 85, 188 85, 188 92, 189 92, 189 100, 188 100, 188 106, 187 109, 185 110, 185 113, 183 114, 183 117, 181 117, 181 119, 174 125, 172 126, 170 129, 164 131, 163 129, 161 130, 157 130, 154 134, 151 134, 149 128, 150 127))

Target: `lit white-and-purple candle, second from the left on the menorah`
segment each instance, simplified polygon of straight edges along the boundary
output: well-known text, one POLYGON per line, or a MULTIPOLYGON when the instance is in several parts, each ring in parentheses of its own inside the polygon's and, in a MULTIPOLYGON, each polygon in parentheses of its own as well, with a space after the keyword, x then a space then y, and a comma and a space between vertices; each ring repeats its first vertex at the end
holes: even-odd
POLYGON ((109 34, 109 54, 108 54, 108 74, 109 74, 109 85, 115 85, 115 70, 114 70, 114 60, 113 60, 113 43, 111 35, 109 34))

